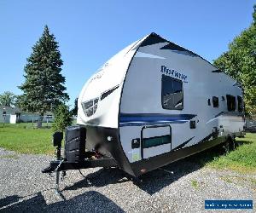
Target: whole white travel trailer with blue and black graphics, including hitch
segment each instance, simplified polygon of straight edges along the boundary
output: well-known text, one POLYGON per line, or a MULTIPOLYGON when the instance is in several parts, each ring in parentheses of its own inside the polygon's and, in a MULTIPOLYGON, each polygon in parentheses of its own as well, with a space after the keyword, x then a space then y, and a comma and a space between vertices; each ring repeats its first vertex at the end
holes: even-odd
POLYGON ((117 166, 131 176, 223 143, 245 120, 241 85, 201 56, 155 33, 108 60, 79 95, 78 125, 54 135, 43 172, 117 166))

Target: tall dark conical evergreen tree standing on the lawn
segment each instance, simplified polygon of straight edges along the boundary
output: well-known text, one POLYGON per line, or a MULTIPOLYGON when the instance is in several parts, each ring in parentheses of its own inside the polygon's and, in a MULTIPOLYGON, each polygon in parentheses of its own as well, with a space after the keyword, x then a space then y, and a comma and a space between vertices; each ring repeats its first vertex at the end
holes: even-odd
POLYGON ((61 102, 69 99, 65 92, 65 78, 61 75, 61 53, 55 36, 44 26, 44 33, 32 47, 32 55, 25 66, 25 83, 21 106, 29 112, 38 112, 38 127, 41 127, 44 113, 53 111, 61 102))

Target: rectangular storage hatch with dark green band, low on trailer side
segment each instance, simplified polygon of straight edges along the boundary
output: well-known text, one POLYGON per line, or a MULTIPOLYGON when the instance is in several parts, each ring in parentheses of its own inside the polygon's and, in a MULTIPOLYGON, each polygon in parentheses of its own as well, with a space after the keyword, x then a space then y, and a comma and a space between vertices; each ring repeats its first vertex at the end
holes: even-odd
POLYGON ((141 134, 142 158, 150 158, 172 151, 170 125, 144 126, 141 134))

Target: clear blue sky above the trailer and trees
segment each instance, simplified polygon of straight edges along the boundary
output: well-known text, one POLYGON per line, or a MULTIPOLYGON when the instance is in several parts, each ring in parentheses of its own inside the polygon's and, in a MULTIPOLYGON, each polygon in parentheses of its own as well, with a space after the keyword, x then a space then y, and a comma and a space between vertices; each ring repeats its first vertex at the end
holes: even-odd
POLYGON ((0 0, 0 94, 18 89, 26 58, 48 25, 64 61, 69 105, 104 62, 155 32, 206 60, 252 23, 256 0, 0 0))

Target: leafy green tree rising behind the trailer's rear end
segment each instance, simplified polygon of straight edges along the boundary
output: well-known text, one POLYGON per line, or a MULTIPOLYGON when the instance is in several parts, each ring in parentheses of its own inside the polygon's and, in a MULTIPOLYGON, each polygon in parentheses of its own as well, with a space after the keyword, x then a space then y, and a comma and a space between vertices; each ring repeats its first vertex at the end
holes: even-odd
POLYGON ((214 65, 242 84, 246 112, 256 115, 256 5, 253 23, 234 38, 229 50, 214 60, 214 65))

